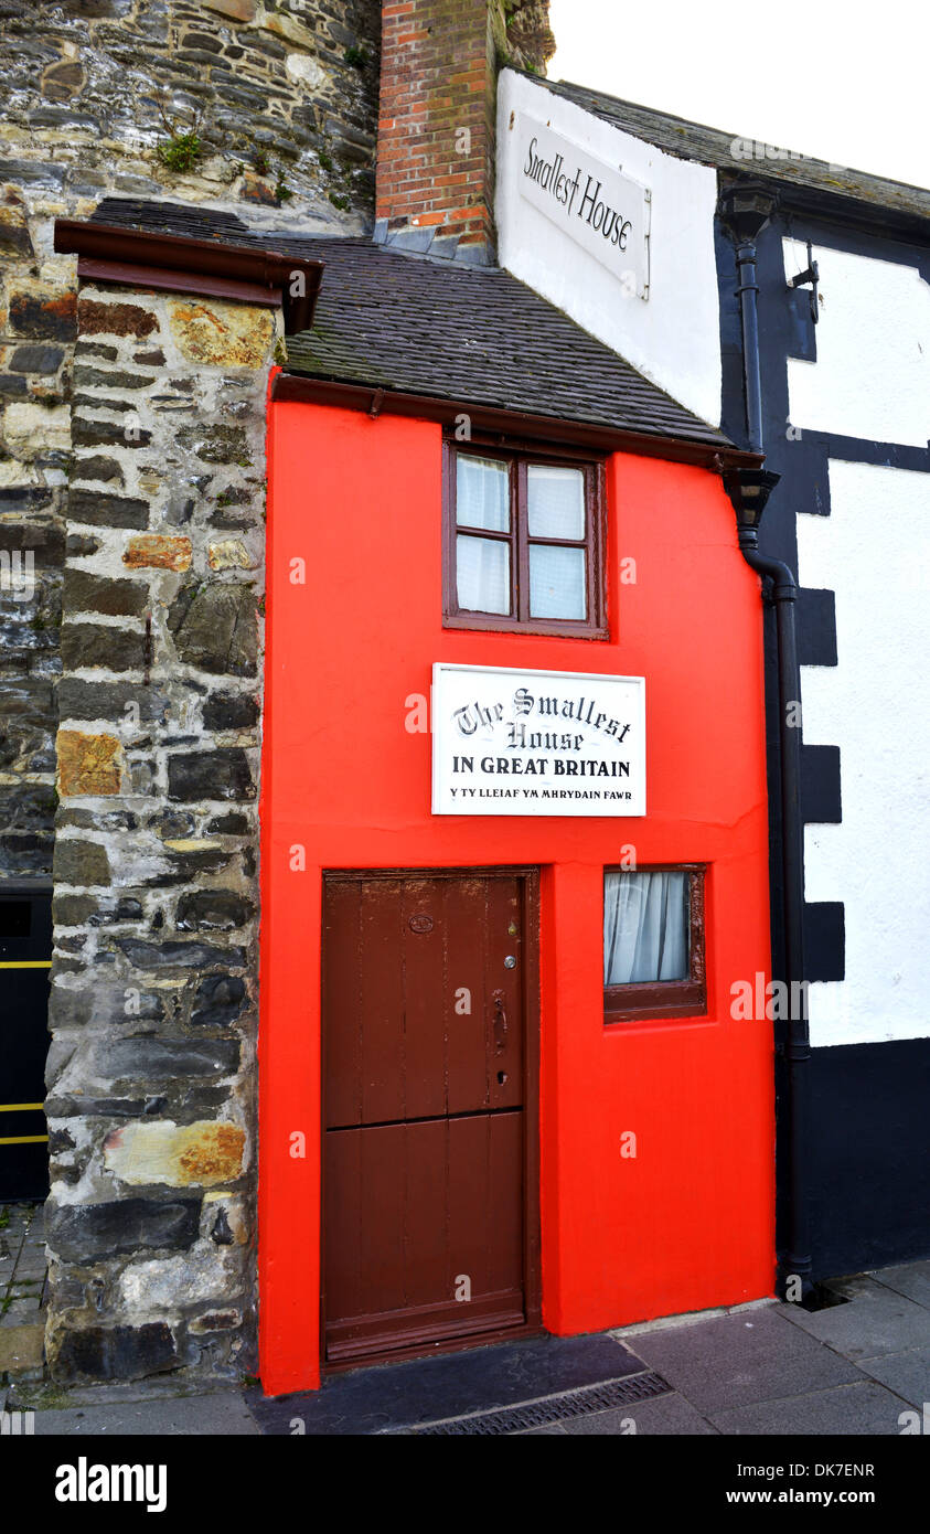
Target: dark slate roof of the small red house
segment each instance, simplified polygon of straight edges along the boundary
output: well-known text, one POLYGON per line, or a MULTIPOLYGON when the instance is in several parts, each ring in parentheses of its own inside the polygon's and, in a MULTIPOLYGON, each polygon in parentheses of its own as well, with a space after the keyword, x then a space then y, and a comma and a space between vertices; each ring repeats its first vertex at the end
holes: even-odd
POLYGON ((324 261, 313 328, 287 339, 289 373, 732 446, 497 267, 431 261, 358 236, 255 233, 235 213, 184 204, 107 198, 94 219, 324 261))

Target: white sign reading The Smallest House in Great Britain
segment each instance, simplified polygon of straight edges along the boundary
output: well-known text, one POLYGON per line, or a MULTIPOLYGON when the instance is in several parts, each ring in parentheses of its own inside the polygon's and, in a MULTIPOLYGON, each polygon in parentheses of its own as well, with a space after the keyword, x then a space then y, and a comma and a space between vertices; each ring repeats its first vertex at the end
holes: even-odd
POLYGON ((433 667, 433 815, 645 815, 643 676, 433 667))

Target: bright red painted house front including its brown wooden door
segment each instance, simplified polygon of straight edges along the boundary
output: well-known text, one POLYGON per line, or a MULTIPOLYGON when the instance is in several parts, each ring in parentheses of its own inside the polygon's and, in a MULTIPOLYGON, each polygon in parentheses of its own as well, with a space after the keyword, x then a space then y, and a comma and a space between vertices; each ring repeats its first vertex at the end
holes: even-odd
POLYGON ((362 405, 374 388, 347 391, 347 408, 282 382, 262 764, 265 1391, 772 1293, 772 1026, 732 1016, 734 985, 769 974, 761 621, 720 460, 675 462, 700 454, 671 439, 663 459, 645 433, 638 453, 629 433, 623 451, 603 431, 580 446, 577 422, 559 440, 537 420, 526 440, 526 416, 463 442, 410 394, 378 410, 362 405), (588 511, 603 637, 450 623, 448 463, 531 471, 568 453, 603 486, 588 511), (646 813, 434 815, 437 663, 505 667, 514 684, 645 678, 646 813), (698 991, 675 1005, 674 986, 651 1000, 629 986, 625 1009, 623 986, 605 989, 605 871, 672 870, 700 899, 684 977, 698 991), (471 1095, 456 1086, 471 1069, 459 1025, 486 1066, 471 1095), (477 1138, 456 1149, 467 1123, 477 1138))

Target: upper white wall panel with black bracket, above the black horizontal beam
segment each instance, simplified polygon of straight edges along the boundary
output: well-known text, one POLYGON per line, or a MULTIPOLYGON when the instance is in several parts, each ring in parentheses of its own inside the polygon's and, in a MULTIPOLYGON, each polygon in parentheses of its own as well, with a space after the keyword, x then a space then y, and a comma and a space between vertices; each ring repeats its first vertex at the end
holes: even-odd
MULTIPOLYGON (((807 267, 807 247, 793 239, 783 245, 790 278, 807 267)), ((813 259, 824 299, 816 362, 787 359, 792 425, 925 448, 930 284, 915 267, 824 245, 813 259)))

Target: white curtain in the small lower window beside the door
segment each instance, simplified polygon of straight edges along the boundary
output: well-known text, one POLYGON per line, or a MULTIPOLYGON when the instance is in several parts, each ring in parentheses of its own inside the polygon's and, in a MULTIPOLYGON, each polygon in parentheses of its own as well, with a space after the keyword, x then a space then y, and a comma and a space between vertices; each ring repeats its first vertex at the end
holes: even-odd
POLYGON ((688 979, 688 874, 605 873, 603 983, 688 979))

